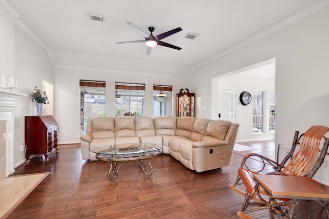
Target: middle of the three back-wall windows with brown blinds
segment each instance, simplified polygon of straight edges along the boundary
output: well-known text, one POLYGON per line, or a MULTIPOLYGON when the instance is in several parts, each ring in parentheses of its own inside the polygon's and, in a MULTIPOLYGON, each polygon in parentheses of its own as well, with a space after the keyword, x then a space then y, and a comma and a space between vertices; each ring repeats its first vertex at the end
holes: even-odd
POLYGON ((144 116, 145 84, 115 83, 116 116, 144 116))

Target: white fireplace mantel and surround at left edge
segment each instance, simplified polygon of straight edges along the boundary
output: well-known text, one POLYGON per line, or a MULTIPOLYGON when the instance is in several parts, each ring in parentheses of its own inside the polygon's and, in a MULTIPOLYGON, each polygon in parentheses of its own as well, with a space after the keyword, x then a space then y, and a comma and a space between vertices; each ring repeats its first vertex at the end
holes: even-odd
MULTIPOLYGON (((27 96, 27 94, 16 93, 7 90, 0 90, 0 121, 6 121, 6 130, 2 130, 6 139, 6 147, 1 150, 6 150, 5 161, 0 159, 1 162, 5 163, 1 166, 6 166, 6 170, 2 170, 0 179, 12 174, 14 172, 14 110, 17 107, 16 99, 20 96, 27 96)), ((2 151, 3 153, 4 151, 2 151)))

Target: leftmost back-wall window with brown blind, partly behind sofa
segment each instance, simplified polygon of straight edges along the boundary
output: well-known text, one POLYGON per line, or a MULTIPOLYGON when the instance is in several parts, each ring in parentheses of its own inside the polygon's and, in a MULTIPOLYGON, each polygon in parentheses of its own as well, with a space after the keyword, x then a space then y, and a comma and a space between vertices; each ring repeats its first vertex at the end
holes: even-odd
POLYGON ((80 133, 88 118, 105 115, 105 82, 80 80, 80 133))

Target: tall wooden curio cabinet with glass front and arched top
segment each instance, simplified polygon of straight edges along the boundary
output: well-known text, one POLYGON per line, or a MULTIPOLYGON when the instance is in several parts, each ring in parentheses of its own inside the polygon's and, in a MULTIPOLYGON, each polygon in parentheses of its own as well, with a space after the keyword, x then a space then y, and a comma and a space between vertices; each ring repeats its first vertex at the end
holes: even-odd
POLYGON ((194 101, 195 94, 190 93, 189 89, 185 88, 186 91, 183 92, 184 89, 180 89, 179 93, 177 93, 177 117, 179 116, 191 116, 194 117, 194 101))

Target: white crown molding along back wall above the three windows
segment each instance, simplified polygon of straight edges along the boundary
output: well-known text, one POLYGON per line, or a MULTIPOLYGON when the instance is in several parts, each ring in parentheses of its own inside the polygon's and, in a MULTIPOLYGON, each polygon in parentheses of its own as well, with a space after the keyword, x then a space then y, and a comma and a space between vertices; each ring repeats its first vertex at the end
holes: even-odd
POLYGON ((165 74, 152 74, 136 71, 120 71, 120 70, 109 70, 109 69, 100 69, 100 68, 89 68, 89 67, 78 67, 78 66, 65 66, 65 65, 56 65, 54 66, 57 69, 70 69, 70 70, 84 70, 84 71, 98 71, 98 72, 108 72, 108 73, 120 73, 120 74, 138 74, 138 75, 148 75, 156 77, 180 77, 187 78, 186 76, 177 76, 177 75, 165 75, 165 74))

